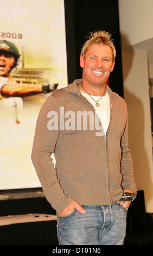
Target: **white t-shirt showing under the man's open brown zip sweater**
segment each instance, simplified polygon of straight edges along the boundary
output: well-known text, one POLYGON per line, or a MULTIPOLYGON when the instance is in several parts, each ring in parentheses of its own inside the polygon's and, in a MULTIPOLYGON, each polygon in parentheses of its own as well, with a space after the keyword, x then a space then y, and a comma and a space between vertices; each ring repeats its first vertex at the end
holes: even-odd
POLYGON ((93 99, 95 101, 98 101, 99 103, 99 107, 97 107, 95 104, 96 102, 92 99, 92 97, 86 93, 81 92, 81 94, 86 97, 86 99, 92 104, 92 106, 95 109, 95 112, 97 112, 98 117, 101 121, 101 124, 103 125, 103 129, 105 131, 105 133, 107 132, 107 129, 109 127, 109 123, 110 123, 110 96, 109 94, 106 92, 106 95, 103 96, 100 99, 100 96, 93 96, 93 99))

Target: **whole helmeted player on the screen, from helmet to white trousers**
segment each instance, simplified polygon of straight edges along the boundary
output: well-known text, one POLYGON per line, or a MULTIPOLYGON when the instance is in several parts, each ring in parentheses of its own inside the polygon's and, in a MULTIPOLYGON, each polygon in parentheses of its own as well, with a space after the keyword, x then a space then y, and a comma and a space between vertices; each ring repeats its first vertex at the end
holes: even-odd
MULTIPOLYGON (((23 107, 21 97, 53 91, 49 85, 16 83, 11 77, 11 71, 17 66, 19 57, 15 44, 0 40, 0 100, 3 100, 3 113, 8 118, 15 119, 16 124, 20 124, 18 116, 23 107)), ((56 89, 58 84, 54 86, 56 89)))

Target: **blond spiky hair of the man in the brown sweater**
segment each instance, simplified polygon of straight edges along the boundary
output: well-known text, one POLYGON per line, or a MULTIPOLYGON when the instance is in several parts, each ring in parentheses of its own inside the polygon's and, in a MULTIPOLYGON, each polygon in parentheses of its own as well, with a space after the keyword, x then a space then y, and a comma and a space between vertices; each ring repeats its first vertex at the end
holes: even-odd
POLYGON ((109 45, 112 48, 113 52, 113 60, 116 57, 116 48, 113 45, 113 39, 111 38, 111 34, 105 31, 97 31, 97 32, 90 32, 90 35, 87 36, 88 40, 85 42, 84 46, 82 47, 81 55, 85 58, 85 54, 87 48, 94 44, 103 44, 109 45))

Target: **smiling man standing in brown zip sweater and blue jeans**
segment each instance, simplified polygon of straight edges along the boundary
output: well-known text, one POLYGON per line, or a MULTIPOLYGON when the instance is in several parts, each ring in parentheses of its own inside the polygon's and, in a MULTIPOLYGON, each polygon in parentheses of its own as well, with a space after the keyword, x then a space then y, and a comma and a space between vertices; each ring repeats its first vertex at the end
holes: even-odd
POLYGON ((91 33, 80 56, 82 80, 52 93, 37 120, 31 157, 44 194, 57 212, 60 245, 124 241, 131 200, 119 200, 123 192, 134 194, 137 188, 126 104, 106 86, 115 57, 110 33, 91 33), (80 113, 92 117, 84 119, 87 125, 81 128, 80 113))

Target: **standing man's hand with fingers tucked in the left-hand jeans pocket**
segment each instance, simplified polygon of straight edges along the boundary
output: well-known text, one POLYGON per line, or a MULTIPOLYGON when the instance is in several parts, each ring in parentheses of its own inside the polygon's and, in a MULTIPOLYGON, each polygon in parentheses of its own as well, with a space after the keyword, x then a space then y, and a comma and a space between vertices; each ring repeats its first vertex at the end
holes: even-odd
POLYGON ((59 216, 69 215, 74 211, 74 209, 78 210, 80 214, 86 214, 86 211, 84 210, 84 208, 82 208, 80 204, 78 204, 76 201, 72 199, 69 205, 67 206, 67 208, 59 212, 58 215, 59 216))

